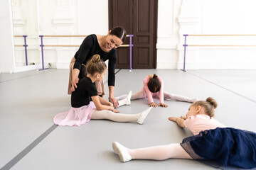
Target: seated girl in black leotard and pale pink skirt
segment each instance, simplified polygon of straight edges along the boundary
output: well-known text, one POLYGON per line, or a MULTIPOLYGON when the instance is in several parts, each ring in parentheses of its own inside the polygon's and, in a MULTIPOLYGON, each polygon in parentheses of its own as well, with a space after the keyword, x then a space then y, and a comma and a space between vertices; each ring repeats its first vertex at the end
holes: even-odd
MULTIPOLYGON (((86 64, 87 76, 80 79, 78 87, 71 95, 72 108, 55 116, 53 121, 56 125, 83 125, 89 122, 90 119, 144 123, 151 108, 138 114, 118 114, 119 111, 114 109, 112 103, 98 96, 95 81, 102 81, 106 71, 107 66, 103 60, 100 60, 100 55, 94 55, 92 60, 86 64), (90 101, 90 98, 92 101, 90 101)), ((118 106, 129 105, 131 96, 132 91, 129 92, 126 98, 119 101, 118 106)))

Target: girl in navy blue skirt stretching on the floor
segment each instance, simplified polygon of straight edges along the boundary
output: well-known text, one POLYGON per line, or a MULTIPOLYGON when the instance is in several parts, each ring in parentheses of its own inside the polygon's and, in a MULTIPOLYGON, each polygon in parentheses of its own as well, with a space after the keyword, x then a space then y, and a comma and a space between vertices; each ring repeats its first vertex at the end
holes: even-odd
POLYGON ((238 166, 256 167, 256 133, 235 128, 226 128, 213 118, 218 106, 213 98, 196 101, 188 108, 186 116, 170 117, 181 128, 188 128, 193 136, 182 143, 129 149, 113 142, 114 152, 122 162, 132 159, 164 160, 169 158, 196 159, 218 168, 238 166), (217 164, 216 164, 217 163, 217 164))

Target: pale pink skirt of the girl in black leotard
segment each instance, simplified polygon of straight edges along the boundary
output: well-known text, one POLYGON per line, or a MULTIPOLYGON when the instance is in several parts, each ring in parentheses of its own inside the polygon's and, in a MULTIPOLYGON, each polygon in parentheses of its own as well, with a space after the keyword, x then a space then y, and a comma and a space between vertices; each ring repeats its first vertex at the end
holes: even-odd
POLYGON ((53 118, 56 125, 61 126, 80 126, 89 122, 92 118, 92 113, 96 111, 95 104, 90 101, 87 106, 80 108, 70 108, 69 111, 58 113, 53 118))

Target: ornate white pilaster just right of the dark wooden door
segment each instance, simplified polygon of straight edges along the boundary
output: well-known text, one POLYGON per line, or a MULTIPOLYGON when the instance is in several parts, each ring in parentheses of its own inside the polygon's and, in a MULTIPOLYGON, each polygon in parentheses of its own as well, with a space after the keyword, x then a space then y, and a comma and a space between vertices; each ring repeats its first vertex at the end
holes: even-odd
POLYGON ((157 30, 157 68, 176 69, 178 63, 179 26, 181 0, 159 0, 157 30))

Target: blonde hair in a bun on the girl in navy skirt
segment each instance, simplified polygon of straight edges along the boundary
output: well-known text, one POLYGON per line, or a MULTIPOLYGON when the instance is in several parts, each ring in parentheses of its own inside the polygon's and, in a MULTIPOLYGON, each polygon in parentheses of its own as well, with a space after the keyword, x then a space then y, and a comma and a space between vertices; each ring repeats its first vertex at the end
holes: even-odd
POLYGON ((201 106, 206 111, 206 114, 210 117, 214 117, 215 114, 215 108, 217 108, 218 103, 213 98, 208 97, 206 98, 206 101, 196 101, 192 104, 193 106, 201 106))

